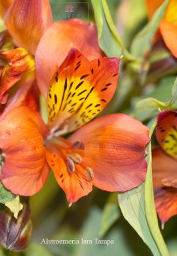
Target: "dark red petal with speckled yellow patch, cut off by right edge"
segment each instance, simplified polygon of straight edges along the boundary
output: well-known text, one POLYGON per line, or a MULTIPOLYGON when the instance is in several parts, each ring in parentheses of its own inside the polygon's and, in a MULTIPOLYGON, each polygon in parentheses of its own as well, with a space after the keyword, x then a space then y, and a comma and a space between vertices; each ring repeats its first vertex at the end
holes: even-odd
POLYGON ((157 141, 168 155, 177 159, 177 112, 164 110, 157 117, 157 141))

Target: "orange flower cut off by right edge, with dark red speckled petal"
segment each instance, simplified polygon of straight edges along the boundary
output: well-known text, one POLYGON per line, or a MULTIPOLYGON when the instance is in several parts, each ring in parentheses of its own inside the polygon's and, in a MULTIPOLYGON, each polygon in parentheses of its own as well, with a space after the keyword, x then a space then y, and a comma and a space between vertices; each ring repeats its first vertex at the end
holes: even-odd
POLYGON ((158 115, 153 148, 155 205, 162 226, 177 214, 177 112, 164 110, 158 115))

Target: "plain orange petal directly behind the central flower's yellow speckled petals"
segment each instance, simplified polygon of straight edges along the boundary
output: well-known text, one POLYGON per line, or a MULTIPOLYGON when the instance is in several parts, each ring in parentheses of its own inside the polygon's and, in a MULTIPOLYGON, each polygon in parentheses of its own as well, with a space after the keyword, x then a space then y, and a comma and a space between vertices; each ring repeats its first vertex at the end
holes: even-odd
POLYGON ((100 58, 97 38, 96 26, 83 20, 55 22, 50 26, 35 53, 37 82, 46 98, 54 72, 72 48, 79 50, 88 60, 100 58))

